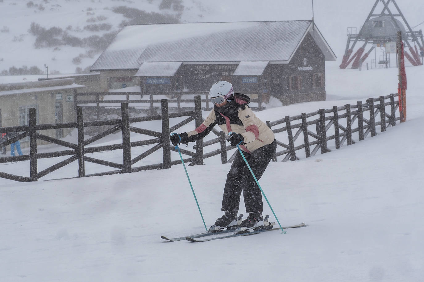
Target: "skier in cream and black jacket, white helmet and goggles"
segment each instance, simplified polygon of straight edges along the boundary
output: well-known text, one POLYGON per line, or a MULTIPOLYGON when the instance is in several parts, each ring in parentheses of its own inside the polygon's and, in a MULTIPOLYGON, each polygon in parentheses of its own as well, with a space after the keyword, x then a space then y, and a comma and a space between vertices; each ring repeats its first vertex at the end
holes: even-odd
MULTIPOLYGON (((232 146, 240 146, 254 175, 259 179, 265 172, 276 150, 276 141, 272 130, 251 110, 247 104, 250 98, 240 93, 234 93, 232 84, 218 81, 209 90, 209 97, 214 108, 206 120, 193 131, 172 134, 172 145, 187 144, 205 137, 212 128, 218 126, 228 134, 232 146)), ((227 174, 224 187, 221 211, 224 215, 218 218, 215 226, 234 227, 237 225, 240 195, 243 190, 247 219, 240 226, 248 228, 263 225, 262 194, 249 171, 241 154, 237 153, 227 174)), ((211 227, 212 228, 212 227, 211 227)))

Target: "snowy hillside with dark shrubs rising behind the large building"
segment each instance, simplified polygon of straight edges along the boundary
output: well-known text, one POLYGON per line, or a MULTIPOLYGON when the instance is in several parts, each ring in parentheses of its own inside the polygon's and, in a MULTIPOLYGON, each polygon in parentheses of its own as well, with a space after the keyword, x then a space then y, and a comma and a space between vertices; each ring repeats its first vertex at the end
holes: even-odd
MULTIPOLYGON (((315 23, 339 60, 346 27, 359 29, 373 2, 315 0, 315 23)), ((424 2, 397 3, 411 26, 422 23, 424 2)), ((45 64, 50 74, 86 71, 123 24, 312 19, 309 0, 0 0, 0 10, 3 75, 45 73, 45 64)))

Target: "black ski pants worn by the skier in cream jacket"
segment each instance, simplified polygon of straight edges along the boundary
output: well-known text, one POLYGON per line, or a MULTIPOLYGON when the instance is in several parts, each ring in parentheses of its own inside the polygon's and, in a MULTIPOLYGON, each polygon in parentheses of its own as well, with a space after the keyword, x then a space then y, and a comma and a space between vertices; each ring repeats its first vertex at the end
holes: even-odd
MULTIPOLYGON (((275 153, 277 143, 274 140, 269 145, 256 149, 251 154, 243 152, 256 179, 259 180, 275 153)), ((239 210, 240 195, 243 190, 246 212, 263 211, 262 193, 247 167, 240 152, 237 152, 224 188, 221 211, 239 210)))

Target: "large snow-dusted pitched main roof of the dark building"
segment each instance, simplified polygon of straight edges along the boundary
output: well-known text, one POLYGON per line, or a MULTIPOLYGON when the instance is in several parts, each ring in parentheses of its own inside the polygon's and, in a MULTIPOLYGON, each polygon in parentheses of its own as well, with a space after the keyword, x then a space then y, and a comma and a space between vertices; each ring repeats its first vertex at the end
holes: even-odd
POLYGON ((336 60, 310 20, 129 25, 91 70, 138 69, 144 62, 289 62, 308 32, 325 59, 336 60))

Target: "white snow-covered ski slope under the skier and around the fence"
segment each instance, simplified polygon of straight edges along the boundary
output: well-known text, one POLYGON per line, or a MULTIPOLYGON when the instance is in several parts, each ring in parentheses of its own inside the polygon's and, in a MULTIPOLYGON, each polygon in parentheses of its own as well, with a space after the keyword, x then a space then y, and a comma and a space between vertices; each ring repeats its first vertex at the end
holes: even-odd
MULTIPOLYGON (((329 101, 273 108, 258 116, 276 120, 396 91, 395 69, 339 71, 334 64, 327 71, 332 75, 329 101)), ((330 153, 270 163, 259 182, 279 221, 308 227, 166 243, 161 235, 204 230, 181 165, 36 183, 0 179, 0 280, 421 281, 424 67, 408 67, 407 74, 406 123, 330 153)), ((122 161, 119 153, 106 156, 122 161)), ((178 154, 173 152, 173 158, 178 154)), ((39 160, 39 169, 60 161, 46 160, 39 160)), ((206 225, 222 214, 229 168, 219 156, 187 167, 206 225)), ((1 171, 21 173, 29 167, 6 164, 1 171)), ((75 176, 75 171, 68 165, 54 177, 75 176)), ((264 214, 272 214, 266 203, 264 214)))

